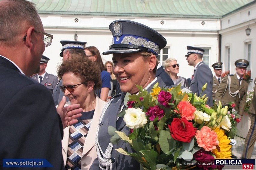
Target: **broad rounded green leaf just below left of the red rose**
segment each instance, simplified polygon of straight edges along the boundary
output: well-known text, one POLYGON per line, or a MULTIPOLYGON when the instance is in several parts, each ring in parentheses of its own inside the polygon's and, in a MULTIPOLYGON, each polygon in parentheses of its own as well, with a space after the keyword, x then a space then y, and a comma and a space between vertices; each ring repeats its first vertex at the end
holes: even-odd
POLYGON ((171 134, 166 130, 160 130, 159 134, 159 145, 163 153, 169 154, 172 149, 172 137, 171 134))

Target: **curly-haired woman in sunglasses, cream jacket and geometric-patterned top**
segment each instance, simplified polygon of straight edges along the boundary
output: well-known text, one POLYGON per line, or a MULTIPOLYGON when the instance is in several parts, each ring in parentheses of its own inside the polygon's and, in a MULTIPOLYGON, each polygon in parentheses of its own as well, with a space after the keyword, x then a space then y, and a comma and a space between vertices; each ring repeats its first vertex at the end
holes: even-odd
POLYGON ((62 63, 58 70, 60 89, 69 98, 66 105, 80 104, 83 109, 78 123, 64 129, 62 155, 66 169, 89 169, 97 157, 95 140, 99 118, 106 102, 95 93, 101 87, 99 67, 87 57, 76 57, 62 63))

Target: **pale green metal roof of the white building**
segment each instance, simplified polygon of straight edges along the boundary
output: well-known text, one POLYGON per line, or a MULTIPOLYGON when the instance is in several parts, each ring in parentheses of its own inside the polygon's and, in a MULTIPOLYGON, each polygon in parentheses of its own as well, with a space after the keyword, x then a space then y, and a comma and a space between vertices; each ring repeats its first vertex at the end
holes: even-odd
POLYGON ((30 0, 40 14, 221 18, 255 0, 30 0))

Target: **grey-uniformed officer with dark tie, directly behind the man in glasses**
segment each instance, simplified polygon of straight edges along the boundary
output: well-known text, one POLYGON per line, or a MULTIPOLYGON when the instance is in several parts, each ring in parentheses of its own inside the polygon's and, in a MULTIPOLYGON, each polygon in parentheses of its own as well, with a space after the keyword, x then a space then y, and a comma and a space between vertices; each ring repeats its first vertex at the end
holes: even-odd
POLYGON ((40 84, 43 84, 47 87, 47 89, 50 90, 51 93, 53 93, 53 89, 57 85, 59 80, 56 75, 48 74, 45 71, 49 60, 50 59, 48 57, 42 55, 42 58, 40 60, 40 71, 30 78, 32 78, 35 81, 38 81, 40 84))

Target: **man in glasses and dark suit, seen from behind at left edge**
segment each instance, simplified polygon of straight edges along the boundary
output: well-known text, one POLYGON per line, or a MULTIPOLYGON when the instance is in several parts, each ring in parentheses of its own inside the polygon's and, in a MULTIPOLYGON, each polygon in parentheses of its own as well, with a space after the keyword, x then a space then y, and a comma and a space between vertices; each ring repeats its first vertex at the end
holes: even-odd
POLYGON ((46 159, 52 169, 64 170, 63 128, 76 123, 83 109, 64 107, 65 98, 56 109, 50 91, 29 77, 39 72, 53 35, 44 32, 34 4, 26 0, 1 0, 0 20, 0 167, 7 165, 4 158, 46 159))

